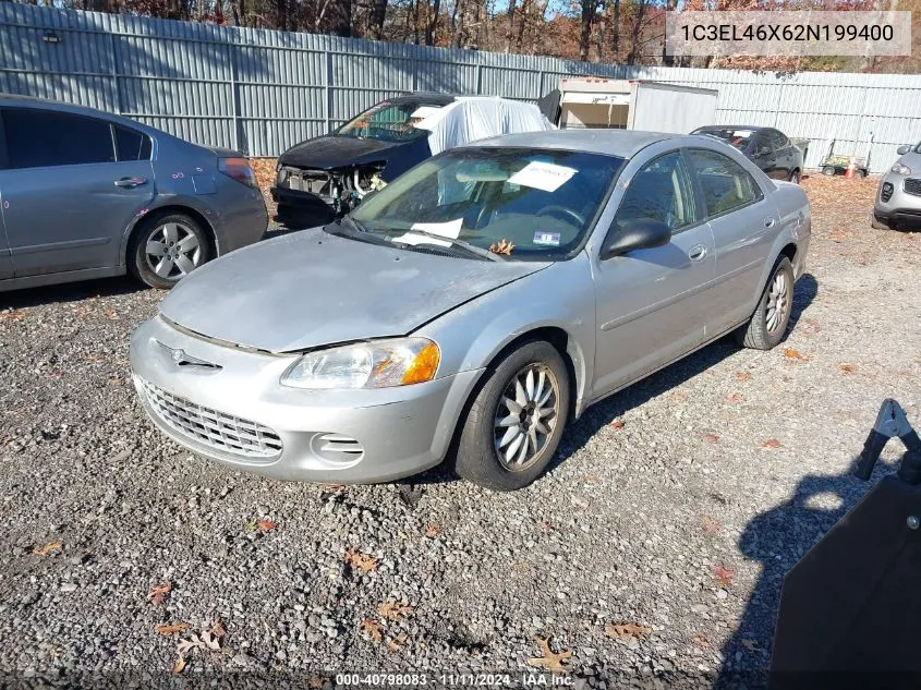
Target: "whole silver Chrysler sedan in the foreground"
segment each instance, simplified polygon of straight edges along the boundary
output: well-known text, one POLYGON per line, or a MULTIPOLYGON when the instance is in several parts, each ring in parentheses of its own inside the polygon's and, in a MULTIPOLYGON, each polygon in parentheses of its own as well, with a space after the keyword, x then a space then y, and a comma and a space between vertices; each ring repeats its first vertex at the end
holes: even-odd
POLYGON ((589 405, 725 334, 778 343, 810 226, 799 186, 708 136, 486 140, 197 270, 133 334, 134 383, 234 469, 378 482, 449 457, 514 489, 589 405))

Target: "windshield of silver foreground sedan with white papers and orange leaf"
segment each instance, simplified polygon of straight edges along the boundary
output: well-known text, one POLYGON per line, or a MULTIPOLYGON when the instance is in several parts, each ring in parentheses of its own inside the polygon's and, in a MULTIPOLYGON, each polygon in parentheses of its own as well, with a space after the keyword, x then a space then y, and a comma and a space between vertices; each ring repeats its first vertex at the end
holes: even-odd
POLYGON ((622 165, 581 152, 456 148, 400 175, 351 216, 398 244, 565 258, 581 246, 622 165))

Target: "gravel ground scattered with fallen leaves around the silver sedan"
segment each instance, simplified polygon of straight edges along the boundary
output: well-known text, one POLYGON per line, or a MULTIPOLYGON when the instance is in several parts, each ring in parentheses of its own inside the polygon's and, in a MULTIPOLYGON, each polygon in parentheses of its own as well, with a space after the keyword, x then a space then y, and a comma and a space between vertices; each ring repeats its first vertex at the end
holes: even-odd
POLYGON ((318 688, 540 671, 547 638, 579 686, 764 669, 784 573, 867 491, 847 473, 881 401, 921 425, 921 234, 870 228, 874 185, 805 181, 784 344, 717 342, 615 396, 514 494, 444 471, 344 488, 229 472, 135 401, 128 339, 161 293, 0 294, 0 671, 163 680, 186 640, 184 678, 318 688), (219 651, 201 649, 218 618, 219 651), (158 632, 174 622, 191 627, 158 632))

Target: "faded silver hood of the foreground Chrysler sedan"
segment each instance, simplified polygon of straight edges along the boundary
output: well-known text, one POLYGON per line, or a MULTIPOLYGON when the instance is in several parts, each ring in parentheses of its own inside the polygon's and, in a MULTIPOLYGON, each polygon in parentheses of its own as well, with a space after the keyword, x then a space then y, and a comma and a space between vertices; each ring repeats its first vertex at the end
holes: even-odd
POLYGON ((160 304, 193 332, 294 352, 403 336, 549 264, 485 262, 305 230, 205 264, 160 304))

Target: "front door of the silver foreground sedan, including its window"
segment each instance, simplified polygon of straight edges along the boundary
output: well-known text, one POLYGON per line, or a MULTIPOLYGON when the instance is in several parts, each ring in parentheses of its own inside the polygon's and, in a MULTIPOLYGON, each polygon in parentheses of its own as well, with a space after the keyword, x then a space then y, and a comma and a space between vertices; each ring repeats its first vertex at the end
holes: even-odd
POLYGON ((593 398, 644 376, 703 343, 714 246, 683 156, 654 158, 630 180, 611 232, 637 218, 672 229, 665 246, 599 261, 593 398))

